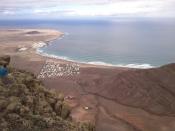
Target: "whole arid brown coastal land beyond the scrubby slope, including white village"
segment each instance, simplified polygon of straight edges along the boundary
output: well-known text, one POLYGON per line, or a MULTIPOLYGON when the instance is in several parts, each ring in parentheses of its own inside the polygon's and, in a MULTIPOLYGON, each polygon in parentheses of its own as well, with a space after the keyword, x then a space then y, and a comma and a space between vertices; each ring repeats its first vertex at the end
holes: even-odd
POLYGON ((1 29, 0 55, 62 92, 76 121, 97 131, 175 130, 175 64, 130 69, 76 63, 36 52, 63 33, 50 29, 1 29))

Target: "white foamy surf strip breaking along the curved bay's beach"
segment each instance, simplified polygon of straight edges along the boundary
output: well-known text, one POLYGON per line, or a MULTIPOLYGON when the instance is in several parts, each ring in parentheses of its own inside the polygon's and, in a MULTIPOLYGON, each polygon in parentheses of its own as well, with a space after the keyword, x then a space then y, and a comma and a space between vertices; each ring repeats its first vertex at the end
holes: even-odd
POLYGON ((136 68, 136 69, 149 69, 149 68, 154 68, 154 66, 150 65, 150 64, 110 64, 110 63, 105 63, 102 61, 91 61, 91 62, 82 62, 82 61, 76 61, 76 60, 72 60, 69 57, 66 56, 57 56, 54 54, 48 54, 45 53, 43 50, 40 50, 39 48, 37 49, 37 53, 42 55, 42 56, 46 56, 46 57, 50 57, 50 58, 55 58, 55 59, 63 59, 66 61, 70 61, 70 62, 78 62, 78 63, 82 63, 82 64, 90 64, 90 65, 100 65, 100 66, 111 66, 111 67, 125 67, 125 68, 136 68))

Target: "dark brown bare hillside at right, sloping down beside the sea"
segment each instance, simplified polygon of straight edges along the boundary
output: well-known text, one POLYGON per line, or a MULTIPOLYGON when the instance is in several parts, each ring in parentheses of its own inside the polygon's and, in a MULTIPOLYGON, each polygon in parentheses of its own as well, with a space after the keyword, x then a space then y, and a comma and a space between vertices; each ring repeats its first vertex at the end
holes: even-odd
POLYGON ((153 114, 175 116, 175 64, 128 70, 102 81, 96 95, 153 114))

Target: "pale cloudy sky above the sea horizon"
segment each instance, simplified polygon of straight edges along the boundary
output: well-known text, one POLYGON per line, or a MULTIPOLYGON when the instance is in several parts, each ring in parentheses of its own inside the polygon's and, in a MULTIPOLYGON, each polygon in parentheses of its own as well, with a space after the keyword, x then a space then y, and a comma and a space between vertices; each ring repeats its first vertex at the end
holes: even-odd
POLYGON ((0 0, 0 19, 175 17, 175 0, 0 0))

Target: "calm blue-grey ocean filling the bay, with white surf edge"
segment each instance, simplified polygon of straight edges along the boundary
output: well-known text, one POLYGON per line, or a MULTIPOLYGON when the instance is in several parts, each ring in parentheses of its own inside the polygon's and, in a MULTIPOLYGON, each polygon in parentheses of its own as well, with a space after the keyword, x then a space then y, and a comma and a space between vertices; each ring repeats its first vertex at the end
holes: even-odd
POLYGON ((175 20, 0 20, 2 28, 64 33, 38 51, 90 64, 151 68, 175 62, 175 20))

